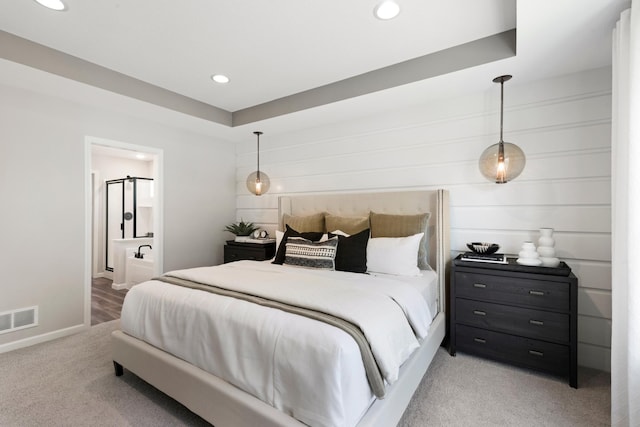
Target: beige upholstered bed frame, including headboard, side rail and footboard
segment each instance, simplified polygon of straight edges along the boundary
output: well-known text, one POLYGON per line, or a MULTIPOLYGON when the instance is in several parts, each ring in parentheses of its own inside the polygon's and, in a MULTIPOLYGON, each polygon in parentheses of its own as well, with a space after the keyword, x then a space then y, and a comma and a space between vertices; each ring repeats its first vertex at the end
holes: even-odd
MULTIPOLYGON (((384 399, 375 400, 358 427, 387 427, 398 423, 445 336, 445 296, 449 250, 449 194, 446 190, 341 193, 282 196, 283 213, 308 215, 328 212, 363 216, 370 211, 389 214, 431 212, 428 223, 429 264, 438 276, 438 314, 420 348, 403 364, 400 377, 384 399)), ((218 377, 133 338, 122 331, 112 334, 116 375, 133 372, 160 391, 185 405, 216 427, 304 426, 289 415, 245 393, 218 377)))

